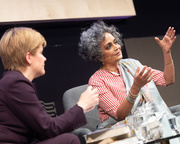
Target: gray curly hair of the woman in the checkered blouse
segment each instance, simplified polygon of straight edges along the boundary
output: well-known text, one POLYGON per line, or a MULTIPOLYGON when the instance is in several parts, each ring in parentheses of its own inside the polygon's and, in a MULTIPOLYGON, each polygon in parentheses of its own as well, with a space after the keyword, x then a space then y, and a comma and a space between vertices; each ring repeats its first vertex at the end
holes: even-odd
POLYGON ((85 60, 102 62, 101 42, 105 39, 105 32, 112 34, 117 43, 123 46, 122 35, 114 25, 108 26, 103 21, 93 25, 81 33, 79 42, 79 55, 85 60))

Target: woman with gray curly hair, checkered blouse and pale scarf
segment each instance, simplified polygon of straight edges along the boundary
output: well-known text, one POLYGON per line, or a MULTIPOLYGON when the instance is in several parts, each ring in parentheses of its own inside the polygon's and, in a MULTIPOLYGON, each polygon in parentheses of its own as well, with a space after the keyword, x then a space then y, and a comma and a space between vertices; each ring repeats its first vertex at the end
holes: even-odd
POLYGON ((102 122, 99 128, 124 120, 133 114, 136 107, 149 101, 153 101, 159 111, 166 112, 168 118, 173 117, 156 86, 175 82, 171 56, 171 46, 176 39, 174 28, 169 27, 162 40, 155 38, 163 51, 163 72, 143 66, 135 59, 122 59, 121 38, 115 26, 108 26, 103 21, 95 22, 80 37, 80 56, 102 63, 89 79, 89 85, 98 89, 98 110, 102 122))

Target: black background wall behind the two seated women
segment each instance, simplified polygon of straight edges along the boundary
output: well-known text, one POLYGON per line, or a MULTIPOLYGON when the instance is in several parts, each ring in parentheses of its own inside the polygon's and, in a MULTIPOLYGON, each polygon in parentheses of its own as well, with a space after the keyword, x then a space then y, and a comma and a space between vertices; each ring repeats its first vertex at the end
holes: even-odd
MULTIPOLYGON (((180 33, 179 0, 134 0, 136 16, 128 19, 103 19, 116 25, 123 38, 138 38, 164 35, 169 26, 180 33)), ((8 28, 28 26, 41 32, 48 42, 44 55, 47 58, 46 75, 34 80, 39 98, 54 101, 58 114, 64 112, 63 93, 72 87, 88 83, 89 77, 99 68, 99 64, 85 62, 78 56, 78 42, 82 30, 97 19, 38 21, 1 23, 0 36, 8 28)), ((127 57, 124 49, 124 57, 127 57)), ((0 74, 3 66, 0 64, 0 74)))

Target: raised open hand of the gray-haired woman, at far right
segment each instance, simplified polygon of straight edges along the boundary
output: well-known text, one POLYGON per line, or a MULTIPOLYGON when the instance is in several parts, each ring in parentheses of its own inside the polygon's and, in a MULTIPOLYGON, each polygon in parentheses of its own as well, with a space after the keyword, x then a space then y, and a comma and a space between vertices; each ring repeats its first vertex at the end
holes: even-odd
POLYGON ((176 40, 175 32, 176 31, 174 30, 174 27, 169 27, 166 32, 166 35, 163 37, 162 40, 160 40, 158 37, 155 37, 155 40, 164 52, 170 52, 171 46, 176 40))

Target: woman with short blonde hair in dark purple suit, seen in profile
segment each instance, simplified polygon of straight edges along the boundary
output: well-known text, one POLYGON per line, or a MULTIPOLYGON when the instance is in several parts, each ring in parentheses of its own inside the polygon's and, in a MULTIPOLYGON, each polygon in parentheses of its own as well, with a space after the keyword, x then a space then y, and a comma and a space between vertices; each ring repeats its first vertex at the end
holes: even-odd
POLYGON ((98 103, 97 91, 89 86, 71 109, 50 117, 32 82, 45 74, 45 46, 44 37, 27 27, 11 28, 0 40, 5 70, 0 80, 0 143, 80 144, 70 132, 86 124, 84 113, 98 103))

